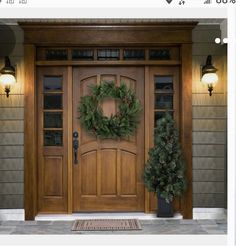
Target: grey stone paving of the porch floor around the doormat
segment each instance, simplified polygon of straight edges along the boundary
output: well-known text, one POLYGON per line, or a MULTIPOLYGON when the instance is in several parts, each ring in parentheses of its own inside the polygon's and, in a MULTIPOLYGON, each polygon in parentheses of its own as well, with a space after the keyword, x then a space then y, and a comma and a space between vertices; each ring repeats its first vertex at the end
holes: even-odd
POLYGON ((0 234, 227 234, 226 220, 140 220, 138 231, 71 231, 73 221, 0 221, 0 234))

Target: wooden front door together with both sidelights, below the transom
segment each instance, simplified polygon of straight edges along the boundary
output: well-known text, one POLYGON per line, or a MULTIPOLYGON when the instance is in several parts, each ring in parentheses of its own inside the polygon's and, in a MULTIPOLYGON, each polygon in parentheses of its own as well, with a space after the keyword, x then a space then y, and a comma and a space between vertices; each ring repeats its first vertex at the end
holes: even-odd
MULTIPOLYGON (((179 125, 179 68, 150 67, 145 83, 144 66, 39 67, 37 80, 39 212, 67 210, 70 185, 72 212, 145 211, 146 130, 153 141, 155 122, 166 110, 179 125), (125 83, 135 91, 142 111, 133 136, 99 139, 81 126, 80 99, 101 82, 125 83)), ((103 100, 103 114, 117 114, 118 105, 103 100)), ((156 199, 151 201, 155 208, 156 199)), ((179 199, 174 205, 181 211, 179 199)))

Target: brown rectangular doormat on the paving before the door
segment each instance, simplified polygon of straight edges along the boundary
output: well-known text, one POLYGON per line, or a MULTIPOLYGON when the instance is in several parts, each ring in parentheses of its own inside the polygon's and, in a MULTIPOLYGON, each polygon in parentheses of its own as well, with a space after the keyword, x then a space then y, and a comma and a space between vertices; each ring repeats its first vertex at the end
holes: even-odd
POLYGON ((142 230, 137 219, 76 220, 72 231, 130 231, 142 230))

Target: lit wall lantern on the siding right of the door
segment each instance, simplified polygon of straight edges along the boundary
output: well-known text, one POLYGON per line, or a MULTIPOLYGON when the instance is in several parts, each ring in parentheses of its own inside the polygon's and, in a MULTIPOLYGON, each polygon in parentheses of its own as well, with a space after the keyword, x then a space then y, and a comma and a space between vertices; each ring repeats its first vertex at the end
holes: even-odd
POLYGON ((206 60, 206 65, 202 67, 202 79, 201 82, 208 85, 209 95, 212 95, 213 87, 218 82, 218 75, 216 74, 218 69, 212 65, 212 56, 209 55, 206 60))

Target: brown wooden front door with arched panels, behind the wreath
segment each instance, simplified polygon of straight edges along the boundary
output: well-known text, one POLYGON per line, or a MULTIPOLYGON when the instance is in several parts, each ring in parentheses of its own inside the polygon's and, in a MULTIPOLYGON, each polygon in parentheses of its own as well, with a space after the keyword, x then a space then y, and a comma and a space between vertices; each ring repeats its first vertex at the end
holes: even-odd
MULTIPOLYGON (((109 117, 117 102, 102 102, 109 117)), ((144 68, 76 67, 73 69, 73 131, 78 132, 78 164, 73 164, 73 211, 144 211, 144 68), (133 137, 100 140, 80 125, 80 98, 91 84, 124 81, 136 91, 143 111, 133 137)), ((74 163, 74 156, 73 156, 74 163)))

